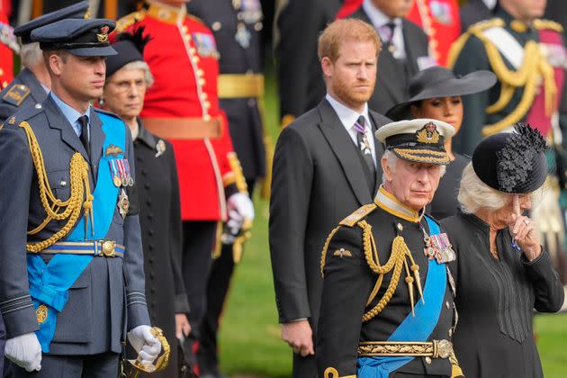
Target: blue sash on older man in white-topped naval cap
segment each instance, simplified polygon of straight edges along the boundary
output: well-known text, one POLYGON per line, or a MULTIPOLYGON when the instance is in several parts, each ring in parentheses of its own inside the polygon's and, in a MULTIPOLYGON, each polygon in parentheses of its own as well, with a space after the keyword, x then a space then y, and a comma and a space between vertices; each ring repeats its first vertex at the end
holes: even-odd
MULTIPOLYGON (((439 226, 434 220, 428 221, 429 235, 440 233, 439 226)), ((441 314, 443 298, 446 291, 445 264, 438 264, 431 259, 428 264, 428 276, 423 289, 423 298, 426 302, 418 301, 415 306, 415 317, 410 314, 392 333, 388 341, 428 341, 429 335, 437 326, 441 314)), ((408 364, 415 357, 359 357, 357 359, 358 378, 388 378, 388 376, 401 366, 408 364)))

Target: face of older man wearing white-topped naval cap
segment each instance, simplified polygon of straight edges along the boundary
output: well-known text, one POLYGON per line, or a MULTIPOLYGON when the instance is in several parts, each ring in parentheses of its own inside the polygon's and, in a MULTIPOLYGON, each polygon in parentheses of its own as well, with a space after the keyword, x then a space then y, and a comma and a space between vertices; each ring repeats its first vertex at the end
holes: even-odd
POLYGON ((403 205, 419 211, 433 200, 441 178, 441 166, 399 158, 392 170, 385 157, 382 164, 385 189, 403 205))

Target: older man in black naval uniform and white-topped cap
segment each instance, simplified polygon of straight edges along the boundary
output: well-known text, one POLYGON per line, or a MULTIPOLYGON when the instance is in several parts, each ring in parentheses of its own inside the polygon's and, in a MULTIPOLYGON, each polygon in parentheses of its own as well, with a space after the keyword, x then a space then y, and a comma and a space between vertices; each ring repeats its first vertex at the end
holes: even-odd
POLYGON ((455 252, 425 214, 450 158, 443 121, 384 125, 383 184, 333 229, 323 247, 320 377, 458 377, 451 337, 455 252))

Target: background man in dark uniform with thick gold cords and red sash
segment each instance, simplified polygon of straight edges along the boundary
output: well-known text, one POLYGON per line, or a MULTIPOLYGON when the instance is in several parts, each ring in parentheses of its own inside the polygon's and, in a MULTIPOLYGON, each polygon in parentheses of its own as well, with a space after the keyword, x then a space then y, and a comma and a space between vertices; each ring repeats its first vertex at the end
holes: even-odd
POLYGON ((565 267, 564 217, 567 209, 567 49, 563 27, 542 20, 545 1, 499 0, 495 18, 476 23, 455 44, 448 64, 455 74, 480 69, 494 72, 490 90, 464 98, 464 128, 453 139, 455 151, 472 155, 484 137, 509 131, 518 121, 534 125, 554 148, 555 161, 543 201, 534 208, 538 232, 562 281, 565 267), (561 193, 561 195, 560 195, 561 193))

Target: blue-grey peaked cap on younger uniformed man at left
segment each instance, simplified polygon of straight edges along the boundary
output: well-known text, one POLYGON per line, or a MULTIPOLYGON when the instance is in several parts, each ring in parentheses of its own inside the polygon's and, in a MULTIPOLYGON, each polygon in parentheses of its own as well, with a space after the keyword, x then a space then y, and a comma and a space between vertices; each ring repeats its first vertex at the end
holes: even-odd
POLYGON ((112 20, 60 20, 31 31, 31 40, 40 42, 40 49, 64 49, 78 57, 107 57, 115 55, 108 40, 114 30, 112 20))

